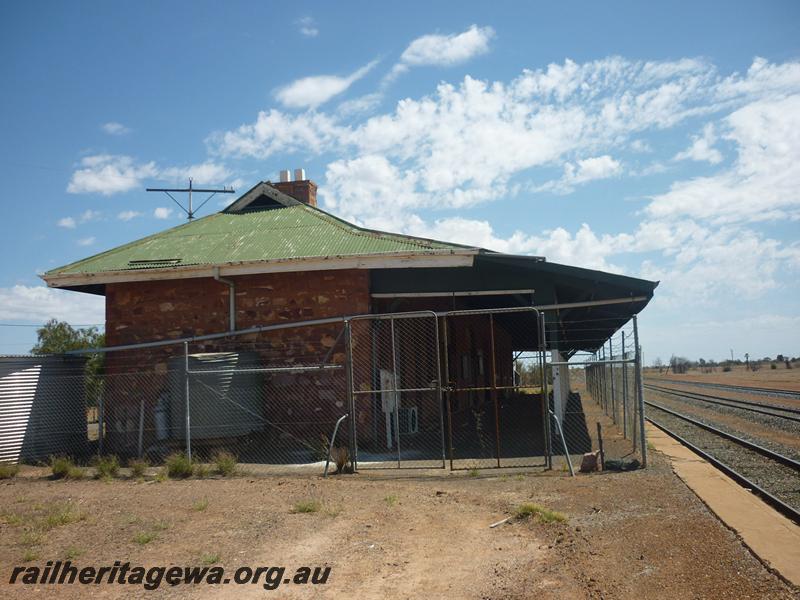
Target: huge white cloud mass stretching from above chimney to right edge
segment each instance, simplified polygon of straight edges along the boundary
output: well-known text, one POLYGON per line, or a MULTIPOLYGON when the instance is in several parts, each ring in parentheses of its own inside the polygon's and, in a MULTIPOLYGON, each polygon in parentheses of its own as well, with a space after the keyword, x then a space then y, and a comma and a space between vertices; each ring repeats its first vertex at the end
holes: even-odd
POLYGON ((702 60, 565 61, 525 71, 509 83, 470 77, 458 86, 443 83, 431 96, 403 100, 391 112, 353 124, 336 113, 260 113, 255 123, 209 143, 240 157, 335 154, 320 198, 326 208, 363 225, 633 271, 663 280, 661 306, 702 306, 730 295, 766 294, 779 285, 780 273, 800 268, 800 245, 744 226, 800 219, 798 71, 800 63, 756 61, 745 75, 722 78, 702 60), (751 77, 760 87, 750 85, 751 77), (759 89, 766 90, 764 97, 759 89), (719 164, 718 136, 736 148, 737 158, 716 174, 676 182, 650 198, 632 232, 601 233, 583 224, 505 236, 487 220, 419 216, 514 195, 514 178, 534 169, 562 169, 562 178, 551 184, 561 189, 664 172, 660 159, 623 168, 614 155, 628 148, 649 152, 645 134, 689 118, 713 119, 715 125, 702 129, 694 140, 702 143, 693 143, 687 158, 719 164))

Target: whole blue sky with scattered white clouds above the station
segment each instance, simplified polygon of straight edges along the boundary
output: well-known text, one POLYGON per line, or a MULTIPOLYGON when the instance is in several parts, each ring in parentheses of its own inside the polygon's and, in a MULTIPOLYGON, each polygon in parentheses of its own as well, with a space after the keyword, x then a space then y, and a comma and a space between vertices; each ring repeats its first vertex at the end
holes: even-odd
POLYGON ((0 352, 103 321, 37 273, 181 223, 146 186, 304 167, 360 224, 660 280, 648 360, 798 355, 798 40, 796 2, 5 2, 0 352))

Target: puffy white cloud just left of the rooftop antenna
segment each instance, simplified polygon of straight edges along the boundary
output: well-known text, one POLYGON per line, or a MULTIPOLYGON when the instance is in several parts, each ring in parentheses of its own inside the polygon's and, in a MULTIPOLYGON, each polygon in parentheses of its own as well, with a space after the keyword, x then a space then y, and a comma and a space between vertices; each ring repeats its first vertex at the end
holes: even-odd
POLYGON ((142 181, 156 177, 154 162, 137 164, 130 156, 97 154, 81 160, 67 185, 71 194, 110 196, 142 187, 142 181))

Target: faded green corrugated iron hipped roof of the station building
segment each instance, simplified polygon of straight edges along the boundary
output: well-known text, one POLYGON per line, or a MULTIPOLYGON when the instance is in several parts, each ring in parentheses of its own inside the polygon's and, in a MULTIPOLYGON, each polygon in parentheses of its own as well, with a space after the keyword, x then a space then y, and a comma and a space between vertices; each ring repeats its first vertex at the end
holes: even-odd
MULTIPOLYGON (((253 194, 258 187, 248 194, 253 194)), ((469 248, 363 229, 283 194, 275 195, 273 190, 270 188, 270 195, 280 197, 282 204, 273 202, 269 208, 230 211, 240 203, 237 200, 222 212, 53 269, 45 273, 45 278, 192 265, 431 253, 469 248)))

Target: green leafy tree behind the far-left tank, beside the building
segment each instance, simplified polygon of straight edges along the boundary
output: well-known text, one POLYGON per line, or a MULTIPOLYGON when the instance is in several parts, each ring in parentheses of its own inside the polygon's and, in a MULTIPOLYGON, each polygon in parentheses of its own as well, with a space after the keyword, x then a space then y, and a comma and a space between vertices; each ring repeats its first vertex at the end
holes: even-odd
MULTIPOLYGON (((36 330, 38 341, 31 348, 33 354, 63 354, 70 350, 85 350, 105 346, 106 336, 97 327, 75 329, 69 323, 50 319, 36 330)), ((86 402, 88 406, 97 406, 103 393, 103 358, 102 353, 91 354, 86 361, 86 402)))

